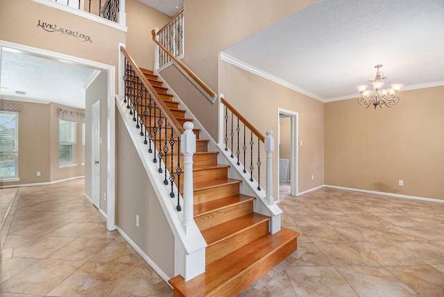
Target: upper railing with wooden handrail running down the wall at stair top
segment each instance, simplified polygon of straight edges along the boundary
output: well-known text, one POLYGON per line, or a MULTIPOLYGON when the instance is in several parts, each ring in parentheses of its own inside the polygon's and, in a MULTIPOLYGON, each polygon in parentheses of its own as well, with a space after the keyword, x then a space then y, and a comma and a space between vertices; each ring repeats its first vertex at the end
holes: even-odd
POLYGON ((214 93, 210 87, 205 85, 200 78, 196 76, 185 64, 183 64, 179 58, 184 54, 184 17, 183 8, 171 21, 163 26, 162 28, 155 28, 151 31, 153 35, 153 42, 156 44, 155 49, 155 65, 156 71, 159 71, 169 65, 169 63, 174 63, 182 74, 184 74, 200 92, 202 92, 212 103, 216 101, 217 95, 214 93))

